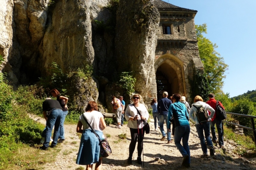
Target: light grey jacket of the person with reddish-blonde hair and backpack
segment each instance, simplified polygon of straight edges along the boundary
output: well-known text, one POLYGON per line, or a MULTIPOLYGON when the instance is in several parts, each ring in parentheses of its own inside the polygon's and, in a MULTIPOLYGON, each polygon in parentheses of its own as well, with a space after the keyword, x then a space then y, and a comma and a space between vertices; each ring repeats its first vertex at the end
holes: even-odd
POLYGON ((190 108, 190 111, 189 111, 189 117, 191 118, 192 121, 195 122, 195 124, 199 124, 199 121, 198 121, 197 117, 195 116, 197 109, 195 107, 193 107, 194 105, 196 107, 202 106, 202 107, 204 107, 205 110, 209 110, 211 112, 211 114, 208 115, 208 121, 212 121, 213 115, 215 114, 215 110, 212 107, 210 107, 209 104, 206 104, 203 101, 197 101, 194 104, 192 104, 192 107, 190 108))

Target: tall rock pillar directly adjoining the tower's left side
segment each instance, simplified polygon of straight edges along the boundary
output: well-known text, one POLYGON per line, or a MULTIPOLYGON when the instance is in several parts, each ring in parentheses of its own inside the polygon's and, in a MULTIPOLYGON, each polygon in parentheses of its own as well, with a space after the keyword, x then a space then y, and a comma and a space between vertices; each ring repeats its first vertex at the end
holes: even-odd
POLYGON ((134 72, 136 92, 149 90, 160 14, 152 0, 119 0, 116 15, 116 57, 119 72, 134 72))

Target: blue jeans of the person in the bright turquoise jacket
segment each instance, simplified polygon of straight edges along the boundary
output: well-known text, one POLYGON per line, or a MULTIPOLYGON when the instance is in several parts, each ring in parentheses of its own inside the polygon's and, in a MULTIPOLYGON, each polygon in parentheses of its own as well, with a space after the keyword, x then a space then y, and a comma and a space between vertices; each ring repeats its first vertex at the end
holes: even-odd
POLYGON ((189 161, 186 162, 188 164, 190 164, 189 133, 190 133, 189 125, 175 127, 174 143, 183 157, 186 155, 189 156, 189 161), (180 144, 181 138, 182 138, 182 145, 180 144))

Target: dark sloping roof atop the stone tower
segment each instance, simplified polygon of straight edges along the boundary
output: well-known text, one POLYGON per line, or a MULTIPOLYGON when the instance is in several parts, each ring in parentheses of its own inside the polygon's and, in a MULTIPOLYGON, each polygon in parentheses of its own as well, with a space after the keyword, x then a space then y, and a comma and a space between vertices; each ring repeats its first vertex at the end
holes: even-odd
POLYGON ((187 11, 187 12, 197 12, 196 10, 181 8, 179 6, 166 3, 163 0, 154 0, 154 5, 158 10, 172 10, 172 11, 187 11))

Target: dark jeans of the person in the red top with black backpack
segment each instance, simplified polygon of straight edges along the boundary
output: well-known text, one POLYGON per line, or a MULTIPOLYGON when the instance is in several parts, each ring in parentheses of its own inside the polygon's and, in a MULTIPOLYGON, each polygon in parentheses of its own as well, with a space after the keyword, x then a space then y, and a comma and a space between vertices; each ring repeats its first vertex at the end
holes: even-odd
POLYGON ((223 140, 223 131, 222 131, 222 121, 219 121, 217 119, 210 121, 211 131, 212 131, 212 140, 217 141, 217 137, 215 134, 215 127, 214 127, 215 124, 218 130, 218 144, 219 146, 223 146, 224 140, 223 140))

